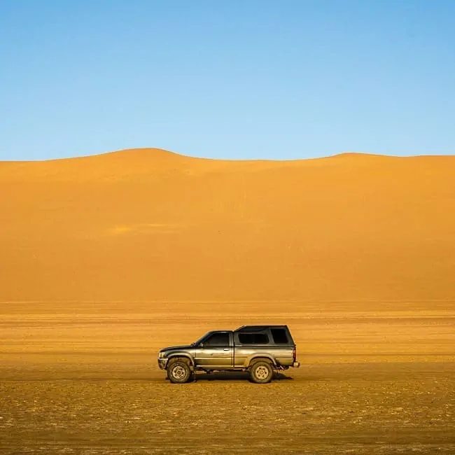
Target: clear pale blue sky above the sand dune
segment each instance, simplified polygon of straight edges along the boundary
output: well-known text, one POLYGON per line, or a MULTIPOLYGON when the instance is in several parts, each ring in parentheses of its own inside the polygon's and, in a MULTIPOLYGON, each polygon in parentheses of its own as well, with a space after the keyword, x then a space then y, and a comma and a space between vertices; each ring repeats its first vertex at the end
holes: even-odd
POLYGON ((455 1, 1 0, 0 160, 455 153, 455 1))

